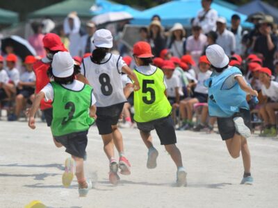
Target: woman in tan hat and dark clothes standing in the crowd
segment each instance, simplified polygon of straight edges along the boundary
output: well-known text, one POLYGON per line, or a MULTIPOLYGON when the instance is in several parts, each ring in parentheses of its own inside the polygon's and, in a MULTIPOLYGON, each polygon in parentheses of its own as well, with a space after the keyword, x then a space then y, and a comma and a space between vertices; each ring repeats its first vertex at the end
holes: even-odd
POLYGON ((165 37, 163 37, 163 27, 161 22, 154 20, 149 24, 149 42, 154 51, 154 56, 159 57, 161 51, 165 49, 165 37))

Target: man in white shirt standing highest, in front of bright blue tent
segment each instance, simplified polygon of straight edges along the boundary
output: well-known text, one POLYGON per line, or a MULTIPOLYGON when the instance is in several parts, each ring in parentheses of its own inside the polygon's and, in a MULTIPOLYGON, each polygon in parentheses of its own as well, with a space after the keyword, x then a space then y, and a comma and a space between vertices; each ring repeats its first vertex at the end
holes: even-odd
POLYGON ((203 32, 206 34, 210 31, 216 30, 216 19, 218 12, 211 8, 213 0, 202 0, 202 10, 199 10, 197 17, 194 19, 193 24, 202 27, 203 32))

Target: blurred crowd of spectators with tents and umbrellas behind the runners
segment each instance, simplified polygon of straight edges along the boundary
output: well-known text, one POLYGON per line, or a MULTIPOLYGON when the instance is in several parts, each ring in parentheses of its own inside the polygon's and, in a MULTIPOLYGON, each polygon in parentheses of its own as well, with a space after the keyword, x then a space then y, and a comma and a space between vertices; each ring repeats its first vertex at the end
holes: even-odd
MULTIPOLYGON (((258 128, 266 137, 277 135, 278 10, 274 7, 257 0, 242 7, 225 1, 180 0, 140 12, 111 1, 92 2, 62 1, 31 13, 23 24, 0 31, 0 107, 8 110, 8 121, 24 117, 33 101, 33 64, 46 56, 42 42, 46 33, 56 33, 82 64, 95 49, 93 34, 106 28, 114 37, 112 53, 122 55, 131 68, 136 67, 133 44, 151 44, 153 64, 165 73, 177 129, 213 132, 215 119, 208 116, 208 89, 203 85, 212 73, 205 50, 219 44, 229 55, 230 65, 238 67, 259 92, 259 103, 250 102, 254 130, 258 128), (92 15, 99 10, 104 11, 92 15)), ((123 85, 127 84, 123 78, 123 85)), ((123 128, 133 126, 132 100, 131 95, 120 123, 123 128)))

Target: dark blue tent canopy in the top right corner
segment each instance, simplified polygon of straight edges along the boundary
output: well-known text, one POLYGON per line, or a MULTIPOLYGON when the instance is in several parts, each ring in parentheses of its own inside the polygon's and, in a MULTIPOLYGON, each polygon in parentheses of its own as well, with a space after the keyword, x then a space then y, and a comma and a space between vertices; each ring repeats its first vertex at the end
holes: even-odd
POLYGON ((246 3, 240 6, 236 11, 243 13, 245 15, 252 15, 256 12, 263 12, 266 15, 271 15, 276 22, 278 22, 278 9, 264 3, 263 1, 255 0, 250 3, 246 3))

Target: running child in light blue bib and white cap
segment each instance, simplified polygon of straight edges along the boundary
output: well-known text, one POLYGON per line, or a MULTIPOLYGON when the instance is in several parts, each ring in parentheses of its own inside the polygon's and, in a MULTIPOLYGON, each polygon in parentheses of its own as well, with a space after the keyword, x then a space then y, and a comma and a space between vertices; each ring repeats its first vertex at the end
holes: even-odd
POLYGON ((213 74, 205 81, 208 87, 208 112, 216 116, 222 140, 233 158, 243 157, 244 174, 240 184, 252 184, 250 150, 247 137, 250 137, 250 107, 246 94, 258 96, 245 80, 237 67, 229 66, 229 58, 221 46, 213 44, 206 49, 213 74))

